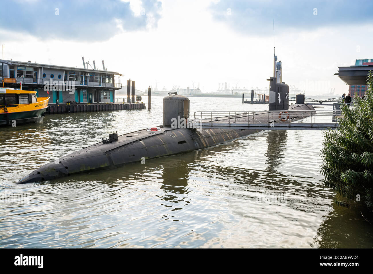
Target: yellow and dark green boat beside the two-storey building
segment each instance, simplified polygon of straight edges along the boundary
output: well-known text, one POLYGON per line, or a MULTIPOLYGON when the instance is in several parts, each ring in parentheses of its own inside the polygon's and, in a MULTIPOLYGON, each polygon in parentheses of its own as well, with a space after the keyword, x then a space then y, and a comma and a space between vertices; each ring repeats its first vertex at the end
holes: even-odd
POLYGON ((43 120, 49 97, 36 91, 0 88, 0 126, 18 126, 43 120))

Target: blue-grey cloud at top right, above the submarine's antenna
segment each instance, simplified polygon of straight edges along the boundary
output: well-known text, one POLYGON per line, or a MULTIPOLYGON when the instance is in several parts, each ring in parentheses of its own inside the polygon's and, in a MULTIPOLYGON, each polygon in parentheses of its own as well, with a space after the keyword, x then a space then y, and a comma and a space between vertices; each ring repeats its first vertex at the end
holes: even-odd
POLYGON ((373 22, 373 1, 220 0, 210 6, 216 21, 244 34, 273 35, 289 29, 314 31, 325 26, 373 22))

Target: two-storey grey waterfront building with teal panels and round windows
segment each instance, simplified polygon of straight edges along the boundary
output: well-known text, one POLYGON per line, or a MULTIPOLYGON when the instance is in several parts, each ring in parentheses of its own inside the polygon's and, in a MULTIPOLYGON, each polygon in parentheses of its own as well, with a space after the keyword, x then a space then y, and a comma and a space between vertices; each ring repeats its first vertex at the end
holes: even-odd
POLYGON ((49 96, 48 105, 67 103, 115 103, 118 72, 78 67, 55 66, 0 60, 1 87, 36 91, 37 97, 49 96))

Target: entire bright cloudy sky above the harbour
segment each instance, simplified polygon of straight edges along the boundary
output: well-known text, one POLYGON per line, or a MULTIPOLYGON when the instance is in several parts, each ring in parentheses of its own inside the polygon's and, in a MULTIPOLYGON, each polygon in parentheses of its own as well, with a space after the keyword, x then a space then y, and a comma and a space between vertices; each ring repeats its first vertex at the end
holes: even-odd
POLYGON ((339 95, 348 86, 334 76, 338 66, 373 58, 373 1, 258 2, 7 1, 1 44, 4 59, 17 61, 83 67, 84 56, 102 69, 104 59, 141 90, 265 88, 275 45, 286 84, 339 95))

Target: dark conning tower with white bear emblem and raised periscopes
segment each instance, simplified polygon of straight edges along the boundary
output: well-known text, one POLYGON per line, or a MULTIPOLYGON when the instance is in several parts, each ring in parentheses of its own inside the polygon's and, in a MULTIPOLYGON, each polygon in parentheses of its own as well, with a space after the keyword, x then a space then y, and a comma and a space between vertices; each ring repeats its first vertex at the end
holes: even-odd
POLYGON ((282 82, 282 62, 273 54, 273 77, 269 81, 269 110, 289 109, 289 86, 282 82))

